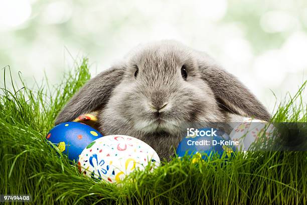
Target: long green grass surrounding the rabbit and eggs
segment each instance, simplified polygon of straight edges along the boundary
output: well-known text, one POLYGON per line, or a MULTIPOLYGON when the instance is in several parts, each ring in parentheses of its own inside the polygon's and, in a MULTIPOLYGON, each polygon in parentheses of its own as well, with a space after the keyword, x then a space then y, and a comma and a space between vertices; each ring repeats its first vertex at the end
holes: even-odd
MULTIPOLYGON (((174 158, 154 172, 133 172, 121 186, 95 183, 45 141, 57 113, 90 78, 87 60, 53 86, 46 77, 34 88, 22 80, 14 87, 9 71, 0 91, 0 194, 31 194, 34 204, 306 204, 306 152, 238 153, 226 164, 174 158)), ((275 122, 307 122, 305 86, 277 105, 275 122)))

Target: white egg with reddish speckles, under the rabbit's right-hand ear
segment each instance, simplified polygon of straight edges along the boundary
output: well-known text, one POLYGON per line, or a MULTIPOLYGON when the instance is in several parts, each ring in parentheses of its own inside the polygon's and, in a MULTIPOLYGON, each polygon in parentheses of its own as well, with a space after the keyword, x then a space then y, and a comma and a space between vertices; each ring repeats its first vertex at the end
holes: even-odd
POLYGON ((251 144, 263 135, 266 139, 272 137, 274 126, 266 121, 248 119, 238 125, 231 131, 230 138, 239 142, 238 149, 247 151, 251 144))

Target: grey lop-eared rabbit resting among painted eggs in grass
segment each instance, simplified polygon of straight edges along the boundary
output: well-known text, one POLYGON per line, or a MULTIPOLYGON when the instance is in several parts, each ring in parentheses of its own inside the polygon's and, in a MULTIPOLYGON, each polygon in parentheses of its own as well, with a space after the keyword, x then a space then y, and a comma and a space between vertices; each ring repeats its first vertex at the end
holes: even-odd
MULTIPOLYGON (((230 122, 231 115, 269 120, 256 97, 206 53, 176 41, 139 46, 89 80, 55 124, 98 111, 103 135, 128 135, 169 159, 186 123, 230 122)), ((186 127, 185 127, 186 130, 186 127)))

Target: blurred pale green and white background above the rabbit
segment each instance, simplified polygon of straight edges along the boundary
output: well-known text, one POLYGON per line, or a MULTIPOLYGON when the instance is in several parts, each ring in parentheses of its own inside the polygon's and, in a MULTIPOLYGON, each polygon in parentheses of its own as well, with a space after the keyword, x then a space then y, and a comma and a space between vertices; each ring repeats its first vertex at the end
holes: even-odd
POLYGON ((175 39, 208 52, 272 111, 272 92, 279 100, 306 80, 306 31, 305 0, 0 0, 0 67, 56 84, 74 58, 87 56, 94 75, 140 43, 175 39))

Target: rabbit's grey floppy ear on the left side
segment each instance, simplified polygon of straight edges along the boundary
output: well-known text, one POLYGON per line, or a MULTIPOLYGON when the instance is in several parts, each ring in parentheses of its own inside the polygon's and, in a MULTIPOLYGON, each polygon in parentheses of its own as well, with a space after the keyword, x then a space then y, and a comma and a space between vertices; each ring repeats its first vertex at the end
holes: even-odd
POLYGON ((73 121, 79 115, 103 107, 113 89, 120 83, 123 74, 124 68, 112 67, 89 80, 62 109, 55 125, 73 121))

